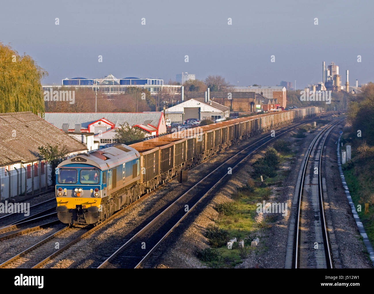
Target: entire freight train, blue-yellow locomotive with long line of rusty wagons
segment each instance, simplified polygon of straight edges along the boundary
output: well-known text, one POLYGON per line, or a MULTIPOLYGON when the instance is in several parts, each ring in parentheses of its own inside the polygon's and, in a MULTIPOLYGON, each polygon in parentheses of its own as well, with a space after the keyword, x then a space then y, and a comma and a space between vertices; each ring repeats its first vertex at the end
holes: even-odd
POLYGON ((58 218, 67 224, 102 222, 174 177, 178 170, 248 137, 316 116, 318 112, 318 107, 307 107, 236 118, 68 158, 57 167, 58 218))

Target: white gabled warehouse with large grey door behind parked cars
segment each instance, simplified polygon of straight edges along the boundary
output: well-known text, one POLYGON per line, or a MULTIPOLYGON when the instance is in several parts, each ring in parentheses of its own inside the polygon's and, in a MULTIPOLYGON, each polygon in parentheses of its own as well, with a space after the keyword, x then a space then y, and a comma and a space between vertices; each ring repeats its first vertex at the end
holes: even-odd
POLYGON ((217 120, 229 117, 230 108, 212 100, 205 102, 204 98, 193 98, 169 107, 165 115, 172 123, 183 123, 188 118, 217 120))

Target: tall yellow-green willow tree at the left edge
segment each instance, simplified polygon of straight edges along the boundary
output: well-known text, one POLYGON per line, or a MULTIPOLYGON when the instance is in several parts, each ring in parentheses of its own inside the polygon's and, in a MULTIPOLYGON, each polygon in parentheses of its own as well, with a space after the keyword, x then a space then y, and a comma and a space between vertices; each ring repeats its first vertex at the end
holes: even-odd
POLYGON ((20 56, 9 45, 0 42, 0 113, 44 112, 40 81, 48 73, 31 56, 20 56))

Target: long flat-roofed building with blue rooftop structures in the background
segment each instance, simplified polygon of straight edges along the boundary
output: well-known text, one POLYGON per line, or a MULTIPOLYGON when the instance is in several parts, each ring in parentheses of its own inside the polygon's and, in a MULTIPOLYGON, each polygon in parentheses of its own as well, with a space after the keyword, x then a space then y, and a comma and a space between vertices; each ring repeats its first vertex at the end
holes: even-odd
POLYGON ((107 95, 126 93, 128 87, 138 87, 140 89, 148 90, 151 95, 157 95, 159 92, 163 93, 180 93, 180 86, 164 85, 163 80, 152 78, 136 78, 127 77, 118 79, 114 75, 109 74, 104 78, 65 78, 62 80, 61 86, 43 85, 43 92, 63 90, 64 88, 74 87, 75 89, 91 89, 92 91, 101 92, 107 95))

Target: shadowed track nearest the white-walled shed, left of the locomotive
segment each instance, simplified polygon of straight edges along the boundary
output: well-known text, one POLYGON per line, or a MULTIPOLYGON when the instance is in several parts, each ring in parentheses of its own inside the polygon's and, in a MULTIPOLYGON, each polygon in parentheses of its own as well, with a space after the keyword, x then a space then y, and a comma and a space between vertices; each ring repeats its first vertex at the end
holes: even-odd
POLYGON ((5 216, 0 217, 0 229, 6 226, 16 225, 26 220, 35 219, 36 217, 44 216, 55 211, 55 208, 56 198, 51 198, 46 201, 30 206, 30 215, 28 216, 24 215, 23 210, 7 214, 5 216))

